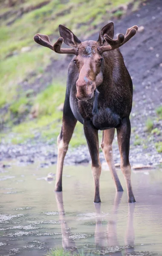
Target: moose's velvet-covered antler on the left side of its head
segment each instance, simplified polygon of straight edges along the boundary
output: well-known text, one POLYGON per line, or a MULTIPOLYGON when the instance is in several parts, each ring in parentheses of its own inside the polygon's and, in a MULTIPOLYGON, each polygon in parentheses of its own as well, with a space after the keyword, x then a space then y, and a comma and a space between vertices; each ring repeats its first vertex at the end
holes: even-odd
POLYGON ((42 34, 36 34, 34 36, 34 41, 37 44, 40 44, 42 46, 48 47, 52 51, 55 51, 57 53, 71 53, 71 54, 78 54, 78 49, 77 48, 61 48, 61 45, 63 43, 63 38, 60 37, 58 38, 57 42, 52 46, 48 35, 42 35, 42 34))

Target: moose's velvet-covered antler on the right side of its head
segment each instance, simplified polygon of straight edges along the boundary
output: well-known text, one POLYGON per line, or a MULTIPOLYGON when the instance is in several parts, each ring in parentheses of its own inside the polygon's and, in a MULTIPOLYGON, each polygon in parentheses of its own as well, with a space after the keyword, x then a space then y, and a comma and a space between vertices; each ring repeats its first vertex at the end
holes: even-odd
POLYGON ((99 52, 106 52, 111 51, 116 48, 121 47, 123 44, 125 44, 130 38, 133 37, 133 35, 136 34, 138 30, 138 26, 133 26, 129 29, 127 29, 126 34, 119 34, 118 38, 116 40, 113 40, 110 38, 107 34, 104 34, 104 40, 107 42, 108 45, 98 47, 99 52))

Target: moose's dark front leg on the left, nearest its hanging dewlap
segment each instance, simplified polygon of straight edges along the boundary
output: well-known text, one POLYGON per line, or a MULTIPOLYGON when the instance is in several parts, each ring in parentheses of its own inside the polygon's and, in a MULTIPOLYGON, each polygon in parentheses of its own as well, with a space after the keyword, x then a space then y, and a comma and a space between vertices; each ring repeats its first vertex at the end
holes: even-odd
POLYGON ((84 120, 84 134, 87 140, 90 156, 92 159, 92 174, 95 182, 94 203, 101 203, 99 192, 101 163, 99 160, 98 131, 93 127, 90 120, 84 120))

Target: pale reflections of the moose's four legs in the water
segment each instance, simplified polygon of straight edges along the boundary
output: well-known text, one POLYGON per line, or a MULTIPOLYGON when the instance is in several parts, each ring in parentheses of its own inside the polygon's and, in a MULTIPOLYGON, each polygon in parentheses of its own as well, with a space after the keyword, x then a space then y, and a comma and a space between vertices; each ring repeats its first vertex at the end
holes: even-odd
MULTIPOLYGON (((127 228, 125 233, 125 247, 119 247, 118 235, 117 235, 117 215, 119 204, 121 202, 123 192, 116 192, 113 209, 110 215, 107 218, 108 224, 107 228, 102 226, 102 215, 101 215, 101 204, 95 204, 95 247, 96 250, 106 250, 109 255, 113 256, 122 256, 122 251, 124 253, 133 253, 134 252, 134 228, 133 228, 133 213, 134 213, 134 204, 128 204, 128 215, 127 215, 127 228), (110 250, 109 250, 110 249, 110 250), (112 253, 112 254, 111 254, 112 253)), ((75 250, 75 242, 71 239, 69 233, 69 227, 66 220, 66 213, 64 211, 63 204, 63 194, 62 192, 55 192, 55 197, 58 206, 59 218, 61 223, 61 233, 62 233, 62 246, 65 250, 73 249, 75 250)), ((95 249, 95 248, 94 248, 95 249)))

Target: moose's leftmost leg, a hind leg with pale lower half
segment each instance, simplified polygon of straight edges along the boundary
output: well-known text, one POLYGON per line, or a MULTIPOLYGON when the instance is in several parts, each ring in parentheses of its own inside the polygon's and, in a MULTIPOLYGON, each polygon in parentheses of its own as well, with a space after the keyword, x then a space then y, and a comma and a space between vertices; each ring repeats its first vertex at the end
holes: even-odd
POLYGON ((58 135, 58 163, 56 171, 55 191, 62 191, 62 172, 64 158, 67 153, 68 145, 71 140, 77 120, 72 114, 71 109, 68 109, 68 115, 63 113, 63 124, 61 133, 58 135))

